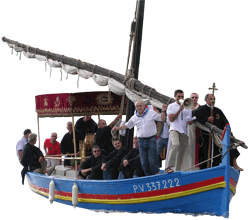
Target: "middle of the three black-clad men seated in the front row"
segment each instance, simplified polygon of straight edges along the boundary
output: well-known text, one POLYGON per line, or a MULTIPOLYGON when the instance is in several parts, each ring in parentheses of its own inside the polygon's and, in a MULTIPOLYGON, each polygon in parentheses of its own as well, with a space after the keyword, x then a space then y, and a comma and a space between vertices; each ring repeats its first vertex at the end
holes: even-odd
POLYGON ((119 139, 113 140, 113 150, 107 157, 103 159, 101 169, 103 172, 103 179, 117 179, 119 174, 119 167, 122 161, 122 158, 128 153, 126 147, 122 146, 122 143, 119 139))

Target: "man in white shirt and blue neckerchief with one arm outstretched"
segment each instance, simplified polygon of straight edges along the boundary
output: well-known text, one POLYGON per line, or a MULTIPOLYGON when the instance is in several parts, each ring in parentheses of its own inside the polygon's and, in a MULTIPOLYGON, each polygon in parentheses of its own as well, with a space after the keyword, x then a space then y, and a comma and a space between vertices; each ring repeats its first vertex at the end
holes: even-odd
POLYGON ((113 130, 131 129, 137 126, 137 137, 139 139, 139 153, 142 169, 146 176, 155 175, 160 172, 159 160, 156 155, 156 123, 162 121, 161 114, 152 109, 145 108, 142 101, 135 103, 136 112, 127 123, 113 130))

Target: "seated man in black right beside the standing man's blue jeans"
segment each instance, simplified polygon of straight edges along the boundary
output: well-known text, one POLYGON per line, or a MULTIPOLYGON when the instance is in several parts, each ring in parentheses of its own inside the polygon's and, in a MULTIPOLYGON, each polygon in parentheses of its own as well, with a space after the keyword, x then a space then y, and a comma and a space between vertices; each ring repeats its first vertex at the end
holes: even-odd
POLYGON ((138 138, 134 137, 134 148, 122 159, 118 179, 144 176, 141 167, 138 138))

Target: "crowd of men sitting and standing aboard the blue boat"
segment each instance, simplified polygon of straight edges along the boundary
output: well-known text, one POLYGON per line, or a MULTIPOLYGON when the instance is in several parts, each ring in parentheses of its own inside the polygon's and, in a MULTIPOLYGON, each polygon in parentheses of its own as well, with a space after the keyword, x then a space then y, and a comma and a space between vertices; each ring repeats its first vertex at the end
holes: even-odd
MULTIPOLYGON (((196 127, 193 121, 197 120, 201 124, 209 122, 223 130, 228 120, 217 107, 213 107, 211 115, 211 103, 215 101, 212 94, 207 94, 206 104, 200 106, 198 94, 192 93, 191 109, 184 108, 182 104, 181 100, 184 100, 182 90, 176 90, 174 97, 176 101, 169 105, 163 104, 161 110, 144 105, 140 100, 137 101, 135 114, 120 126, 115 125, 122 118, 121 114, 109 125, 103 119, 97 124, 91 116, 84 116, 76 122, 75 132, 72 122, 68 122, 68 132, 60 143, 56 141, 55 132, 45 140, 45 154, 46 156, 79 155, 79 142, 88 134, 95 134, 91 156, 79 165, 80 179, 124 179, 160 174, 162 163, 160 155, 163 150, 166 152, 165 173, 205 169, 209 158, 210 134, 196 127), (131 150, 123 146, 122 140, 112 137, 111 132, 126 131, 135 126, 137 136, 133 139, 131 150)), ((45 159, 41 150, 35 147, 36 140, 37 135, 26 129, 16 145, 17 157, 24 167, 23 179, 28 171, 51 175, 55 166, 61 164, 59 159, 45 159)), ((215 158, 211 160, 212 167, 221 163, 222 158, 218 156, 220 152, 220 146, 214 143, 212 157, 215 158)), ((230 165, 242 171, 236 161, 238 156, 237 149, 230 150, 230 165)), ((70 165, 70 160, 64 160, 64 166, 70 165)))

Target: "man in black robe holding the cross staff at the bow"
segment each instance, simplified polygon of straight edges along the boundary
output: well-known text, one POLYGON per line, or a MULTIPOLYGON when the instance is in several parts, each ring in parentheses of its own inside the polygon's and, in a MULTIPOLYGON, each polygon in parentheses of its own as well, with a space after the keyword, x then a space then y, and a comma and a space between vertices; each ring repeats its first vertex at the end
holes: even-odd
MULTIPOLYGON (((211 116, 211 103, 215 100, 215 97, 212 94, 207 94, 205 96, 206 105, 200 106, 195 112, 194 116, 196 116, 197 121, 201 124, 205 124, 209 122, 221 130, 224 130, 228 120, 224 113, 219 109, 213 108, 213 116, 211 116)), ((208 159, 208 147, 209 147, 209 133, 201 130, 201 146, 199 150, 199 163, 208 159)), ((220 148, 214 144, 214 153, 213 156, 220 154, 220 148)), ((234 168, 242 170, 236 163, 237 157, 240 155, 237 149, 230 150, 230 165, 234 166, 234 168)), ((221 156, 214 158, 212 166, 218 166, 221 163, 221 156)), ((207 168, 207 163, 203 163, 200 165, 200 169, 207 168)))

